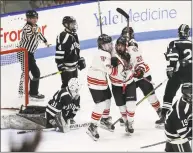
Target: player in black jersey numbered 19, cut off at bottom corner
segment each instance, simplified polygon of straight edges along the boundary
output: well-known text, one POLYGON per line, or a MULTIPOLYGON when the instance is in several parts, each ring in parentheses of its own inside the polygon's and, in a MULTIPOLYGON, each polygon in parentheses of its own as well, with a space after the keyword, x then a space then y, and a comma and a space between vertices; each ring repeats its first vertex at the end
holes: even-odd
POLYGON ((166 114, 166 152, 192 152, 192 83, 184 83, 182 97, 166 114))

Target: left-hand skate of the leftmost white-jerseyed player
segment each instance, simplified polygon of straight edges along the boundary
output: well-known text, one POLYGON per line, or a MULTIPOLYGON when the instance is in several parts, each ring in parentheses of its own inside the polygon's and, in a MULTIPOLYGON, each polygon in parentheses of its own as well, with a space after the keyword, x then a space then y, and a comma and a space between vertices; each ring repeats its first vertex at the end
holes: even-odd
POLYGON ((97 125, 94 123, 91 123, 90 126, 88 127, 88 130, 86 133, 94 140, 97 141, 99 139, 99 133, 97 131, 97 125))

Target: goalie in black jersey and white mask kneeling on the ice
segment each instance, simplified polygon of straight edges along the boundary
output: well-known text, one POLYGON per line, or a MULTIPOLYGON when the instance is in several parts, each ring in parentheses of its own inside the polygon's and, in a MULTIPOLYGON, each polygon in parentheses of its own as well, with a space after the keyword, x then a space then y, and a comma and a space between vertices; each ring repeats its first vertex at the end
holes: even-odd
POLYGON ((59 132, 67 132, 68 125, 75 124, 73 118, 79 109, 79 90, 78 79, 71 78, 67 87, 54 94, 46 108, 47 128, 57 127, 59 132))

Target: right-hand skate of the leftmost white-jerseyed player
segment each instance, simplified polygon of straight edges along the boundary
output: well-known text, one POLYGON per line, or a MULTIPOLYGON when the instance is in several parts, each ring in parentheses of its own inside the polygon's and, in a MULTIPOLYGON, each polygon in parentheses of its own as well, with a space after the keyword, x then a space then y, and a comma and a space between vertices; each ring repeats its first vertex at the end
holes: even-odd
POLYGON ((112 118, 110 116, 108 118, 101 118, 100 127, 111 132, 115 129, 115 126, 112 125, 112 118))

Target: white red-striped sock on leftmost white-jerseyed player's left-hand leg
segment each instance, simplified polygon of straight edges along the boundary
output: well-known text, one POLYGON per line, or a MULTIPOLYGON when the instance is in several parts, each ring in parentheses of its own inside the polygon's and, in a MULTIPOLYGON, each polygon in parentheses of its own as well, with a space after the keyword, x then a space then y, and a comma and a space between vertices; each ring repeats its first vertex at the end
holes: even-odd
POLYGON ((91 116, 91 118, 92 118, 91 122, 92 123, 94 123, 94 124, 98 123, 105 108, 106 108, 106 102, 105 101, 100 102, 100 103, 95 105, 94 110, 92 112, 92 116, 91 116))

